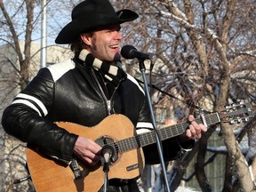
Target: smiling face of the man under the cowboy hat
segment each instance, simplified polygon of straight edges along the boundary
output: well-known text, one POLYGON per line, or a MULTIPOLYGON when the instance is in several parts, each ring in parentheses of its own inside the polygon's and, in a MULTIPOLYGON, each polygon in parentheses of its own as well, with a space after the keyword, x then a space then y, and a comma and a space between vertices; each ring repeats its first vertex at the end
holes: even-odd
POLYGON ((88 42, 84 43, 90 45, 88 51, 99 60, 113 61, 116 53, 120 51, 122 40, 120 28, 120 25, 113 25, 93 32, 92 36, 87 36, 88 42))

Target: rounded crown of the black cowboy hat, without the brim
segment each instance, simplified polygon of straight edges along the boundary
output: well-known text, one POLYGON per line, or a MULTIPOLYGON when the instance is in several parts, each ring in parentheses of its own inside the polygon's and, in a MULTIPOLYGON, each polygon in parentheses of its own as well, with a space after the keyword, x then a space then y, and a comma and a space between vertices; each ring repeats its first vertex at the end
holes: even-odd
POLYGON ((79 20, 99 14, 117 17, 116 11, 108 0, 85 0, 74 7, 71 18, 72 20, 79 20))

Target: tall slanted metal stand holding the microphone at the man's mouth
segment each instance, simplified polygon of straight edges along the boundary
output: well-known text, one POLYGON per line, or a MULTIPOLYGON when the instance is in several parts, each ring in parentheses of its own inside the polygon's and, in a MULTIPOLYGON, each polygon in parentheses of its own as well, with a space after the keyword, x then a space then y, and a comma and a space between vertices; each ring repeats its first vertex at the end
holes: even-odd
POLYGON ((164 166, 164 156, 163 156, 161 140, 160 140, 159 135, 158 135, 157 130, 156 130, 156 119, 155 119, 153 107, 152 107, 152 104, 151 104, 150 94, 148 92, 148 83, 147 83, 147 78, 146 78, 146 75, 145 75, 146 68, 145 68, 144 60, 139 59, 139 66, 140 66, 140 72, 141 72, 143 82, 144 82, 145 94, 146 94, 147 99, 148 99, 148 107, 149 107, 150 114, 151 114, 151 117, 152 117, 152 124, 153 124, 154 132, 155 132, 155 135, 156 135, 156 145, 157 145, 157 149, 158 149, 160 163, 161 163, 162 170, 163 170, 165 188, 167 189, 168 192, 170 192, 170 188, 169 188, 169 184, 168 184, 168 180, 167 180, 166 169, 165 169, 165 166, 164 166))

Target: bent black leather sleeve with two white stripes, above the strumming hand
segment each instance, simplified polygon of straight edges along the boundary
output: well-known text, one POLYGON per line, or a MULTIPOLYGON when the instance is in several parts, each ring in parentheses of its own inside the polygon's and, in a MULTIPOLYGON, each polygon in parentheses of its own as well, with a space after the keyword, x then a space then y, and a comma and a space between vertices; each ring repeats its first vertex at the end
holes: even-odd
POLYGON ((12 104, 5 108, 2 124, 8 134, 28 142, 49 156, 69 162, 78 136, 47 120, 53 94, 52 75, 47 68, 41 69, 12 104))

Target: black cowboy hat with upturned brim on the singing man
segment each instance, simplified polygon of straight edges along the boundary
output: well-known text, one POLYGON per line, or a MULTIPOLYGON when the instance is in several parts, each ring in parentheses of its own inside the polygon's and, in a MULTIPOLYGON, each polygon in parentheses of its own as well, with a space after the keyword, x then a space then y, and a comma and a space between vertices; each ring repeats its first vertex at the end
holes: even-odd
POLYGON ((132 10, 124 9, 116 12, 108 0, 85 0, 73 9, 72 21, 61 29, 55 43, 71 44, 76 42, 82 33, 136 20, 138 17, 139 15, 132 10))

